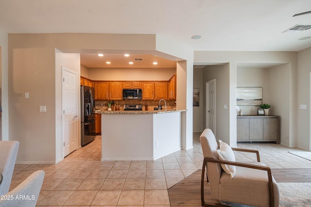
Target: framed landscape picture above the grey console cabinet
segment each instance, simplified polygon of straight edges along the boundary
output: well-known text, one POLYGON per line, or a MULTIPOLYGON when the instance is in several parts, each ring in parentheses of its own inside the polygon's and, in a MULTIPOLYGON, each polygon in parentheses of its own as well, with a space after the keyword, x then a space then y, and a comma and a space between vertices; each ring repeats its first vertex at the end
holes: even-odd
POLYGON ((238 87, 237 106, 259 106, 262 104, 262 87, 238 87))

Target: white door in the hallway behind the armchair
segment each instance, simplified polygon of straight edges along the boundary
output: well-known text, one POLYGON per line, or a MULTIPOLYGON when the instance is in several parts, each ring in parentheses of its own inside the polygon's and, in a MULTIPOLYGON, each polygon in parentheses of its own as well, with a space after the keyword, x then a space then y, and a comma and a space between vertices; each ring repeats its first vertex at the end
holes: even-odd
POLYGON ((216 80, 206 82, 206 128, 210 128, 216 135, 216 80))

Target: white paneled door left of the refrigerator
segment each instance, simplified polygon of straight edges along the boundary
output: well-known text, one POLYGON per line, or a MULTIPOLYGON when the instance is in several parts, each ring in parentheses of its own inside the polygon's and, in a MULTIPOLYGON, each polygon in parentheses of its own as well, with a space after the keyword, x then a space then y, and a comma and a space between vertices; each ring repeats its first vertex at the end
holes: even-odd
POLYGON ((77 149, 77 74, 63 68, 63 156, 77 149))

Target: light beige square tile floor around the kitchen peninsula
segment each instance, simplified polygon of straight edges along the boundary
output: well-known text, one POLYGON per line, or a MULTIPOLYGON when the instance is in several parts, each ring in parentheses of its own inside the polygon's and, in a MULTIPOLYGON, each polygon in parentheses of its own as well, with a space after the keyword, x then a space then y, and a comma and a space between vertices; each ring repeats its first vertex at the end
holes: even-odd
MULTIPOLYGON (((202 168, 201 133, 193 148, 155 161, 101 161, 101 137, 72 152, 57 164, 17 164, 11 190, 36 170, 45 171, 37 206, 170 207, 167 189, 202 168)), ((259 150, 271 168, 311 168, 311 161, 288 153, 303 151, 274 143, 238 143, 259 150)), ((239 161, 254 154, 236 153, 239 161)))

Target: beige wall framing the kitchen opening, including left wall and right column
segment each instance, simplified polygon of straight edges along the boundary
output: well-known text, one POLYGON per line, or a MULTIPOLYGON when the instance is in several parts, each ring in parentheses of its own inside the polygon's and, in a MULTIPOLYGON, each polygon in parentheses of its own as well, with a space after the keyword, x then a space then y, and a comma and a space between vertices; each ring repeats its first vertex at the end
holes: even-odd
POLYGON ((57 87, 61 83, 57 82, 58 75, 57 70, 55 71, 57 66, 55 64, 55 48, 64 53, 94 53, 98 50, 106 53, 123 53, 126 50, 127 52, 154 54, 162 58, 180 61, 176 67, 178 77, 176 107, 185 107, 188 110, 183 112, 182 117, 182 145, 184 149, 191 148, 192 106, 190 104, 192 104, 193 51, 181 47, 174 41, 166 41, 167 39, 156 37, 155 34, 9 34, 9 139, 19 139, 22 143, 20 145, 21 154, 18 156, 17 162, 59 161, 58 154, 60 152, 57 149, 59 144, 56 136, 62 130, 61 124, 57 122, 59 114, 56 112, 61 105, 57 98, 59 96, 57 87), (39 52, 40 50, 42 53, 39 52), (181 58, 187 61, 181 61, 181 58), (20 74, 25 74, 25 76, 20 74), (48 80, 46 80, 47 77, 49 77, 48 80), (23 98, 25 90, 28 90, 29 86, 35 86, 35 88, 31 88, 30 92, 30 97, 35 97, 35 99, 23 98), (15 104, 16 102, 18 104, 15 104), (46 105, 47 112, 38 113, 39 105, 46 105), (189 108, 190 106, 191 108, 189 108), (32 110, 22 111, 27 107, 32 110), (16 109, 17 111, 15 111, 16 109), (50 114, 49 110, 52 110, 53 114, 50 114), (33 116, 36 118, 35 122, 29 122, 33 116), (30 151, 33 153, 29 153, 30 151), (34 154, 36 157, 33 157, 34 154), (31 156, 28 157, 28 155, 31 156))

